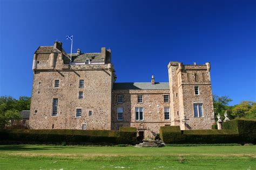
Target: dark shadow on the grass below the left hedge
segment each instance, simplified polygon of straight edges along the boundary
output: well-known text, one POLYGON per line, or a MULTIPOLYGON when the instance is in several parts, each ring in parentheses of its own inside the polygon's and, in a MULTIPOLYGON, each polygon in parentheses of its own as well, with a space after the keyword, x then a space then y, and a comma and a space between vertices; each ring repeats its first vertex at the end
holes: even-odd
MULTIPOLYGON (((26 146, 26 145, 0 145, 0 151, 37 151, 37 150, 63 150, 64 146, 26 146)), ((68 147, 73 148, 73 147, 68 147)))

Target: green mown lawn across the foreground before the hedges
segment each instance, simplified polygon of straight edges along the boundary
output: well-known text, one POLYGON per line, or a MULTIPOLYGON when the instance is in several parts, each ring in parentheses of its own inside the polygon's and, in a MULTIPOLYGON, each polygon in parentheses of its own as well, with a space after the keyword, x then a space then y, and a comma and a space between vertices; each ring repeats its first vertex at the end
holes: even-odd
POLYGON ((256 146, 0 145, 0 169, 256 169, 256 146))

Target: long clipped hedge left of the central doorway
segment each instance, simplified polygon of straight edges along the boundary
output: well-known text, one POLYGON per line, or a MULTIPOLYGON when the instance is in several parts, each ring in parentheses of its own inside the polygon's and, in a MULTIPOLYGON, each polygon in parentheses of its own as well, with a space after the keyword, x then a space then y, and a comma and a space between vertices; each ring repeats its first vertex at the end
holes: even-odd
POLYGON ((107 130, 0 130, 1 143, 22 144, 135 144, 136 128, 107 130))

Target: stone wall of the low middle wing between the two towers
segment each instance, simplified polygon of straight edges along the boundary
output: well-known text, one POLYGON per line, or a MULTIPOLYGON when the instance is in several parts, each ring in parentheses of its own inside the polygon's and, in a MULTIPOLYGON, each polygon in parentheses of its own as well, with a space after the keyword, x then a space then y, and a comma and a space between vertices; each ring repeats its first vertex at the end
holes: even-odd
POLYGON ((170 120, 164 118, 164 107, 170 107, 170 103, 164 102, 164 95, 169 94, 169 90, 113 90, 112 130, 116 130, 117 125, 131 126, 144 131, 145 138, 153 138, 160 126, 171 125, 171 108, 170 120), (117 95, 124 96, 124 103, 117 103, 117 95), (138 95, 143 95, 143 103, 138 103, 138 95), (143 107, 143 121, 135 120, 136 107, 143 107), (117 108, 123 108, 123 121, 117 120, 117 108))

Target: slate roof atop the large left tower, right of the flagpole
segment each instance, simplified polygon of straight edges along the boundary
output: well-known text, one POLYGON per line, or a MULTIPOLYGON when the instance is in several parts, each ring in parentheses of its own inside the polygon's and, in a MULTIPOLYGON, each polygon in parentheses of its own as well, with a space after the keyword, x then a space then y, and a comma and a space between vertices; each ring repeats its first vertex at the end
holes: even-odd
POLYGON ((105 58, 102 58, 101 53, 72 53, 72 62, 85 62, 86 59, 90 59, 90 62, 104 62, 105 58))

